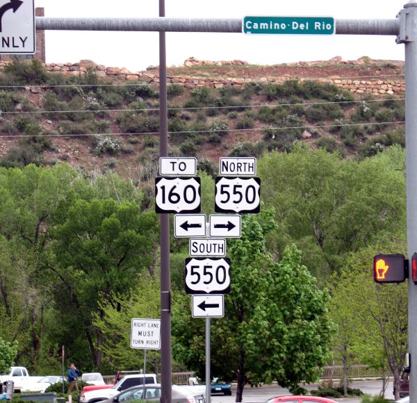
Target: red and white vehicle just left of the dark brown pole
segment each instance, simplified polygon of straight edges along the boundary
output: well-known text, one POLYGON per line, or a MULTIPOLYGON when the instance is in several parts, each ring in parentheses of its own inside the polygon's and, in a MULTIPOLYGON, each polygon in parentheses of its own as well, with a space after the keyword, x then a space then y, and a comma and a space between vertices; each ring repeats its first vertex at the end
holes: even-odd
POLYGON ((126 375, 115 385, 105 386, 84 386, 79 395, 79 401, 81 403, 95 403, 101 400, 110 399, 111 397, 118 395, 119 392, 131 388, 132 386, 143 385, 145 377, 145 384, 156 384, 157 377, 155 374, 135 374, 126 375))

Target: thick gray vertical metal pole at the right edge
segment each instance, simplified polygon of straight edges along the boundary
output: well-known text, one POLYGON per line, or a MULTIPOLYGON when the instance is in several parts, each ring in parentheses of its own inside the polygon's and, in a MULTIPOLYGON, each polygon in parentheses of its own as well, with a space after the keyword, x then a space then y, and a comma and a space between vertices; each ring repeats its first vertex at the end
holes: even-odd
MULTIPOLYGON (((398 43, 405 44, 405 142, 407 177, 407 254, 417 252, 417 3, 400 11, 398 43)), ((408 334, 410 352, 410 402, 417 401, 417 288, 409 272, 408 334)))

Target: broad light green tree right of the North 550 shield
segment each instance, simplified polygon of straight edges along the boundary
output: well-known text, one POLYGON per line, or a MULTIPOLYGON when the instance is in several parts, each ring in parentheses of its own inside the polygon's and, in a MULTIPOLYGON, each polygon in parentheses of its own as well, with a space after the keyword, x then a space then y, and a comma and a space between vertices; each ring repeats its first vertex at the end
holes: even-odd
POLYGON ((288 154, 263 156, 258 162, 262 198, 275 208, 279 223, 268 249, 279 256, 295 242, 304 252, 303 263, 322 281, 343 266, 349 252, 378 242, 381 234, 402 233, 403 160, 404 151, 396 147, 364 161, 302 145, 288 154))

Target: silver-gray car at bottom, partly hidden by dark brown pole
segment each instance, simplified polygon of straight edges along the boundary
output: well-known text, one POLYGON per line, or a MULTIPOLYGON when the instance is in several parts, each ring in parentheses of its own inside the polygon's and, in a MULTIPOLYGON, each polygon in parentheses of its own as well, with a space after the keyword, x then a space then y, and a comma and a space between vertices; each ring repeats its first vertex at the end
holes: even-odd
MULTIPOLYGON (((120 392, 111 399, 101 403, 123 403, 129 400, 161 400, 161 384, 133 386, 120 392)), ((206 403, 204 395, 194 394, 187 386, 172 385, 172 402, 174 403, 206 403)))

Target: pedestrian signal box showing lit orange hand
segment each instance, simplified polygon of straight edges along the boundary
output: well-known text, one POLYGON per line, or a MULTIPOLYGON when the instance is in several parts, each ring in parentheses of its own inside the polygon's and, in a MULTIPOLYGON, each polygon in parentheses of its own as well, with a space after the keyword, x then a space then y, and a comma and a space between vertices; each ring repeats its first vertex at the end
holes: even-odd
POLYGON ((402 254, 377 254, 374 256, 373 272, 374 280, 377 283, 402 283, 407 278, 407 269, 408 264, 402 254))

